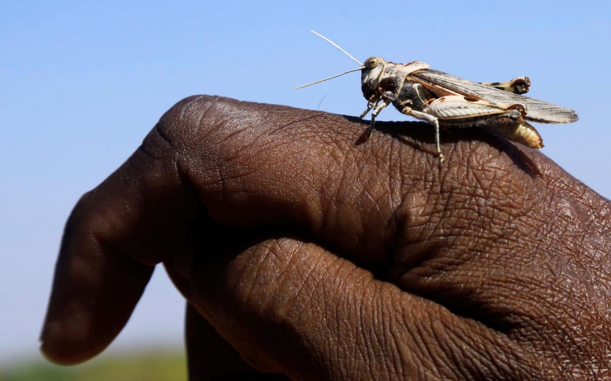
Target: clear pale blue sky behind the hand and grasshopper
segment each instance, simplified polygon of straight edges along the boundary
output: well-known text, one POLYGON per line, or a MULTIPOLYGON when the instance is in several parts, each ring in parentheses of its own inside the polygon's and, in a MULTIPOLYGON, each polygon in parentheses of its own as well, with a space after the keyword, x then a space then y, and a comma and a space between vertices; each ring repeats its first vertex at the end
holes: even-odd
MULTIPOLYGON (((529 95, 580 116, 538 125, 543 152, 611 197, 608 2, 305 3, 0 3, 0 363, 38 355, 71 207, 172 104, 219 94, 346 115, 364 110, 359 73, 291 90, 355 66, 309 29, 359 60, 421 60, 482 82, 529 76, 529 95)), ((379 119, 409 118, 389 107, 379 119)), ((158 268, 111 349, 180 343, 182 326, 183 302, 158 268)))

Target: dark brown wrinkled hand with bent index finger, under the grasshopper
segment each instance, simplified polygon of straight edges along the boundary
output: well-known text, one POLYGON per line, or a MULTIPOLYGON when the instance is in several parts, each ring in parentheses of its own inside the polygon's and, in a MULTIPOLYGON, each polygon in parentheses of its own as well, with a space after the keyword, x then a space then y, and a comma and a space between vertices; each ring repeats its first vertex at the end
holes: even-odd
POLYGON ((430 126, 376 126, 179 102, 68 219, 44 354, 103 351, 163 263, 192 379, 611 377, 610 202, 477 129, 439 168, 430 126))

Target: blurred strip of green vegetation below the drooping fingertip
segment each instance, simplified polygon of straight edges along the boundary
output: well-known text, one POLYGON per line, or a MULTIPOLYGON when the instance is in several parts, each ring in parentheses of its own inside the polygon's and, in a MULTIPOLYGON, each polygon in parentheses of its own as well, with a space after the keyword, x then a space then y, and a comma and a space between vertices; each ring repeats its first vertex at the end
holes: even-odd
POLYGON ((186 380, 183 351, 109 354, 82 365, 59 366, 45 360, 0 368, 1 381, 166 381, 186 380))

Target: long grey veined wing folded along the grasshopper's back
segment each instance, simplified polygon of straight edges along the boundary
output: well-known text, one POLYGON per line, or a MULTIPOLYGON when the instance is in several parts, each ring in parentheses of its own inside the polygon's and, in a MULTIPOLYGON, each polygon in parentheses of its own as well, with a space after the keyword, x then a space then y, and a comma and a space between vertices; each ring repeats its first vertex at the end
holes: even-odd
POLYGON ((423 69, 411 73, 410 77, 422 82, 425 86, 427 84, 437 85, 458 94, 472 96, 500 105, 524 104, 526 106, 524 118, 530 121, 540 123, 571 123, 578 119, 577 113, 566 107, 481 85, 442 71, 423 69))

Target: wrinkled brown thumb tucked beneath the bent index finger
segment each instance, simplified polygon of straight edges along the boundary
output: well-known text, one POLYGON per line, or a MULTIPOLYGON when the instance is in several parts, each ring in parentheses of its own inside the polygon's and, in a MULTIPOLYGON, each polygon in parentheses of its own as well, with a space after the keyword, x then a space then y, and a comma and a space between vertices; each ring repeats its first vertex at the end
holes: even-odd
MULTIPOLYGON (((261 371, 291 379, 527 379, 541 372, 507 336, 373 279, 314 243, 266 240, 219 257, 233 260, 197 266, 189 302, 261 371)), ((180 272, 166 268, 172 277, 180 272)))

